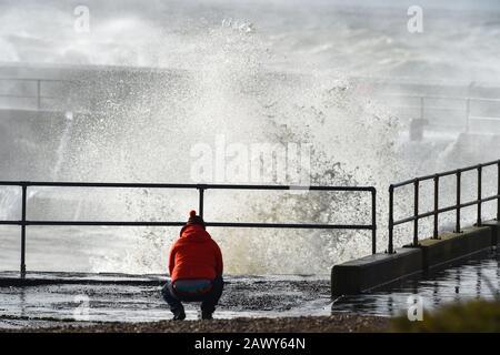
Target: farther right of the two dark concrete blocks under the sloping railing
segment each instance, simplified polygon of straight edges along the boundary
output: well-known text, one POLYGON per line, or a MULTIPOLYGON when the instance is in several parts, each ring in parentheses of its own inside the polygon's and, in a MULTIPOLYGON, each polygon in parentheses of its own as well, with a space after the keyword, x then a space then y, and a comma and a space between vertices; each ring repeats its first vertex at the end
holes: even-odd
POLYGON ((420 241, 424 270, 457 261, 491 247, 491 229, 468 227, 462 233, 443 233, 439 239, 420 241))

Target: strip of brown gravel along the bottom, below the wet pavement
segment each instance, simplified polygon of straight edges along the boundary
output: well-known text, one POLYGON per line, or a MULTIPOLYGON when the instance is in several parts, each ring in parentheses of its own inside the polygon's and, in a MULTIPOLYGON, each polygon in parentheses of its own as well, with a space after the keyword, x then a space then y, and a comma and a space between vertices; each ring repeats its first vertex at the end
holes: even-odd
POLYGON ((214 321, 162 321, 103 323, 88 326, 62 325, 13 332, 43 333, 356 333, 386 332, 390 318, 337 314, 319 317, 233 318, 214 321))

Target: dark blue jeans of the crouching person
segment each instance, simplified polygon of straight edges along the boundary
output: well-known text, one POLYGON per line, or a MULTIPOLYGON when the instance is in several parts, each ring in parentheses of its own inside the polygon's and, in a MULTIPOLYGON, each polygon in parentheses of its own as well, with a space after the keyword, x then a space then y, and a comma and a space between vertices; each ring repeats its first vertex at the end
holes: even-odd
POLYGON ((163 300, 169 304, 170 311, 183 308, 182 302, 201 302, 201 312, 212 314, 216 311, 216 306, 222 296, 222 290, 224 287, 224 281, 222 276, 218 276, 212 281, 212 290, 203 295, 184 296, 176 293, 172 283, 168 281, 163 288, 161 288, 161 295, 163 300))

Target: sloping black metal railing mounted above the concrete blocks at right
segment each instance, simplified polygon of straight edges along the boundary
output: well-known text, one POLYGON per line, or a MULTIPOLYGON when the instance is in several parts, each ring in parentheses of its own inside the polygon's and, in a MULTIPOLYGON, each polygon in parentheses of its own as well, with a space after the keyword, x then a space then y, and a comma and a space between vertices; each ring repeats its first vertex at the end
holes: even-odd
POLYGON ((403 181, 403 182, 400 182, 397 184, 391 184, 389 186, 389 246, 388 246, 388 253, 392 254, 394 252, 393 230, 394 230, 396 225, 413 222, 413 243, 412 243, 412 245, 417 246, 417 245, 419 245, 419 220, 433 216, 432 237, 438 239, 439 214, 454 210, 456 211, 456 230, 454 230, 454 232, 460 233, 461 232, 461 227, 460 227, 461 209, 477 205, 477 209, 478 209, 477 210, 477 225, 480 226, 481 219, 482 219, 482 215, 481 215, 482 203, 488 202, 488 201, 493 201, 493 200, 497 200, 497 220, 500 221, 500 160, 489 162, 489 163, 472 165, 472 166, 468 166, 468 168, 463 168, 463 169, 451 170, 451 171, 447 171, 447 172, 439 173, 439 174, 421 176, 421 178, 403 181), (483 170, 483 168, 492 166, 492 165, 498 166, 498 192, 496 195, 483 197, 482 196, 482 170, 483 170), (477 181, 478 181, 477 196, 478 197, 474 201, 462 202, 461 201, 461 176, 462 176, 462 173, 473 171, 473 170, 476 170, 478 172, 478 179, 477 179, 477 181), (439 179, 444 178, 444 176, 450 176, 450 175, 457 176, 457 197, 456 197, 457 202, 454 205, 440 209, 439 207, 439 179), (429 180, 433 180, 433 183, 434 183, 433 211, 420 213, 419 212, 419 185, 420 185, 420 182, 429 181, 429 180), (413 215, 410 217, 394 221, 394 189, 410 185, 410 184, 413 184, 413 215))

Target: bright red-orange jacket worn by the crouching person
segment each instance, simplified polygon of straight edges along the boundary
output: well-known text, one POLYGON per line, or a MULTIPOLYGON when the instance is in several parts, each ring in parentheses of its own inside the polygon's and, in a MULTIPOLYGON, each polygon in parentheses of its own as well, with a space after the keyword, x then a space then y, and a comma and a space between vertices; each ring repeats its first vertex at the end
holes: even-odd
POLYGON ((190 278, 213 280, 222 275, 222 253, 201 225, 189 224, 170 248, 169 271, 172 283, 190 278))

